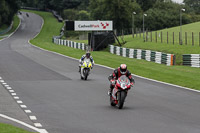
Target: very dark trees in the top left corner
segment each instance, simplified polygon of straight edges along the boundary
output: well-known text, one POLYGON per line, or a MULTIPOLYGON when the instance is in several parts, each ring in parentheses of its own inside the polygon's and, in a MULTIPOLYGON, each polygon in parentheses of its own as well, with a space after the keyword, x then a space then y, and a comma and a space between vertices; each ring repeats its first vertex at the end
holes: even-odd
POLYGON ((9 25, 18 9, 17 0, 0 0, 0 26, 3 24, 9 25))

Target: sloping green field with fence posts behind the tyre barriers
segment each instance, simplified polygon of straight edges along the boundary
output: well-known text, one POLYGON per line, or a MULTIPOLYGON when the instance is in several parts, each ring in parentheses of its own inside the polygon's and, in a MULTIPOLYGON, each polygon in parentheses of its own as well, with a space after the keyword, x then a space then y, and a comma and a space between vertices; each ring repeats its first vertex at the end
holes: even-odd
MULTIPOLYGON (((165 52, 169 54, 175 54, 176 55, 176 65, 182 65, 182 55, 183 54, 200 54, 200 46, 199 46, 199 32, 200 32, 200 22, 187 24, 182 26, 183 31, 183 43, 185 43, 185 32, 187 32, 188 36, 188 44, 185 45, 179 45, 179 32, 180 27, 173 27, 168 28, 160 31, 156 31, 157 35, 161 35, 161 32, 163 34, 163 43, 161 43, 161 36, 158 37, 158 41, 156 43, 155 41, 155 32, 152 32, 152 42, 149 41, 144 42, 143 41, 143 34, 141 34, 141 38, 138 35, 135 38, 132 37, 132 35, 126 35, 124 36, 124 40, 126 41, 126 44, 123 45, 123 47, 127 48, 134 48, 134 49, 144 49, 144 50, 153 50, 153 51, 159 51, 159 52, 165 52), (169 43, 167 43, 167 32, 169 32, 169 43), (175 44, 172 42, 172 34, 175 34, 175 44), (191 41, 191 34, 194 32, 194 43, 195 45, 192 46, 191 41), (190 42, 190 44, 189 44, 190 42)), ((150 33, 149 33, 150 35, 150 33)))

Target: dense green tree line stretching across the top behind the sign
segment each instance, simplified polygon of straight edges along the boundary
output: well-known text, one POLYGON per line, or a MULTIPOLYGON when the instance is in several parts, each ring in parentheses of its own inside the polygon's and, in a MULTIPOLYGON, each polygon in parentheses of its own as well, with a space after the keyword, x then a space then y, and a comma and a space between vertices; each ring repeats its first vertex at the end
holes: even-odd
POLYGON ((180 10, 183 12, 183 24, 200 21, 200 0, 184 0, 185 5, 171 0, 22 0, 23 6, 42 9, 54 9, 68 20, 113 20, 115 29, 132 27, 134 15, 135 27, 141 28, 143 14, 145 28, 159 30, 178 26, 180 10))

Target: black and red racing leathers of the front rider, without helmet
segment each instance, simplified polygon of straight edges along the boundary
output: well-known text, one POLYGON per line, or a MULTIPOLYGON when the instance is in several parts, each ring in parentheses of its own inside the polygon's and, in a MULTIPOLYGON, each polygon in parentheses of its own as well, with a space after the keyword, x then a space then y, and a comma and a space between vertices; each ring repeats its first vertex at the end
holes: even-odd
POLYGON ((117 68, 114 70, 114 72, 108 77, 108 80, 110 81, 110 89, 108 91, 108 94, 110 95, 113 88, 115 87, 115 84, 116 84, 116 80, 121 77, 122 75, 126 75, 128 77, 128 79, 130 80, 130 83, 131 83, 131 86, 134 85, 135 83, 135 80, 134 78, 132 77, 131 73, 126 70, 126 73, 125 74, 122 74, 120 72, 120 68, 117 68))

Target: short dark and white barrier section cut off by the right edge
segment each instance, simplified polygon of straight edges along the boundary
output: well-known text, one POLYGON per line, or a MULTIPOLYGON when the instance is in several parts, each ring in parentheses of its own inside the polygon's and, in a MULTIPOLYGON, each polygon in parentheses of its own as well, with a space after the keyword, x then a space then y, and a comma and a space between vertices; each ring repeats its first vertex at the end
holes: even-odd
POLYGON ((183 55, 183 65, 200 68, 200 54, 183 55))

